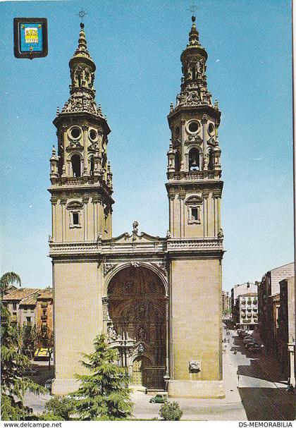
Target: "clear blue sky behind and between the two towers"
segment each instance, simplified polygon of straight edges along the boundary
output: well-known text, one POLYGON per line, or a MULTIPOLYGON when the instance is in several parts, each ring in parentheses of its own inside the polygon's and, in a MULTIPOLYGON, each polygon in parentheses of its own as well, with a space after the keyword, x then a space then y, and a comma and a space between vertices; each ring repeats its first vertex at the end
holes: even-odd
MULTIPOLYGON (((1 272, 51 285, 49 157, 56 106, 68 99, 78 12, 97 64, 97 103, 109 119, 113 236, 168 228, 166 116, 180 89, 190 1, 1 2, 1 272), (13 18, 45 17, 49 54, 13 56, 13 18)), ((293 259, 291 11, 288 0, 201 0, 208 87, 222 111, 223 288, 261 279, 293 259)))

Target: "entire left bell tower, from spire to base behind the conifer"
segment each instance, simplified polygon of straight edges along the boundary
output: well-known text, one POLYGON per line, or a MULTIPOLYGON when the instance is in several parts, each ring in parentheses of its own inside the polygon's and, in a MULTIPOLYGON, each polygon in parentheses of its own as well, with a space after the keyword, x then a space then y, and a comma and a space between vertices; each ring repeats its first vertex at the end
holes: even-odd
POLYGON ((50 159, 56 394, 77 387, 73 373, 81 372, 79 355, 83 349, 92 350, 102 329, 98 253, 101 240, 112 236, 114 202, 107 163, 111 130, 94 100, 96 66, 83 23, 69 67, 70 98, 54 119, 58 152, 54 147, 50 159))

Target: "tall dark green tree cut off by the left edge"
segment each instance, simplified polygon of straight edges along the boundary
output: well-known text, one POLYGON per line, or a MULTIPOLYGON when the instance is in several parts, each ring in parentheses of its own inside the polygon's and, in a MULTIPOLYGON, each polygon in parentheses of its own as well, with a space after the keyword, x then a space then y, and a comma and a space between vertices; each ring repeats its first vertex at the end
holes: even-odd
MULTIPOLYGON (((20 277, 14 272, 1 276, 1 296, 11 283, 20 285, 20 277)), ((20 353, 19 329, 11 325, 8 308, 1 300, 1 417, 2 420, 25 420, 32 410, 23 405, 26 391, 40 393, 42 386, 25 376, 30 360, 20 353)))

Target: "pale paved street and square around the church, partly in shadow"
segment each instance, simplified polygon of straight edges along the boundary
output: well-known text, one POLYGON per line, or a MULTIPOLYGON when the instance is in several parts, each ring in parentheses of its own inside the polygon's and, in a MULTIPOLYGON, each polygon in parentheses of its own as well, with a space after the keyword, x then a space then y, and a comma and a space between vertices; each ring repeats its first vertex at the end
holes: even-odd
MULTIPOLYGON (((242 344, 236 331, 226 335, 223 326, 223 380, 226 398, 178 398, 183 420, 294 420, 295 395, 285 389, 276 360, 262 353, 252 354, 242 344), (228 343, 229 338, 229 343, 228 343), (234 354, 233 351, 237 350, 234 354)), ((256 335, 257 332, 255 332, 256 335)), ((149 403, 151 396, 132 394, 135 419, 159 417, 161 404, 149 403)), ((27 394, 26 404, 42 412, 49 395, 27 394)), ((172 401, 170 399, 170 401, 172 401)))

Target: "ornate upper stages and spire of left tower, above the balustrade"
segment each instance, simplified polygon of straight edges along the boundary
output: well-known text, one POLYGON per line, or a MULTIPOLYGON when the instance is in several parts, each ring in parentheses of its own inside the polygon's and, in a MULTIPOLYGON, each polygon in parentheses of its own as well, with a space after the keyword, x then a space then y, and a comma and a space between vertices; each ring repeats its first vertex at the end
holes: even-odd
POLYGON ((112 173, 106 154, 111 130, 94 101, 96 66, 87 51, 84 24, 80 27, 69 62, 70 98, 54 119, 58 156, 53 148, 50 159, 52 239, 60 243, 112 235, 112 173))

